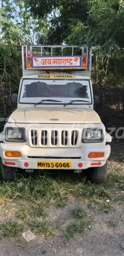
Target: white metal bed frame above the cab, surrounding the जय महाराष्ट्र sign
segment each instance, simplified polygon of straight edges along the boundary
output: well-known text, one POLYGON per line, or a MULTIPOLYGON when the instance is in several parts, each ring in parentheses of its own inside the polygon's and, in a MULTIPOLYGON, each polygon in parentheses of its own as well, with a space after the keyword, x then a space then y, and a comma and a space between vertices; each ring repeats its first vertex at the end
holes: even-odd
POLYGON ((29 75, 37 75, 42 73, 69 73, 75 75, 83 75, 91 77, 91 64, 92 64, 92 49, 87 46, 65 46, 65 45, 22 45, 22 61, 23 61, 23 76, 29 75), (69 57, 69 56, 80 56, 86 59, 85 67, 70 67, 70 68, 32 68, 31 64, 30 67, 27 63, 32 62, 32 58, 39 57, 39 56, 58 56, 58 57, 69 57))

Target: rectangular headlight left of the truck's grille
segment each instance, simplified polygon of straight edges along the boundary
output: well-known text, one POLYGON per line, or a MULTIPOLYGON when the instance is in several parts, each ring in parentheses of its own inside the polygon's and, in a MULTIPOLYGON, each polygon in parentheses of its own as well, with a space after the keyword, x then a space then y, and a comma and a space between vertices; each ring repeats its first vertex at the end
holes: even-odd
POLYGON ((24 128, 6 128, 6 141, 25 142, 24 128))

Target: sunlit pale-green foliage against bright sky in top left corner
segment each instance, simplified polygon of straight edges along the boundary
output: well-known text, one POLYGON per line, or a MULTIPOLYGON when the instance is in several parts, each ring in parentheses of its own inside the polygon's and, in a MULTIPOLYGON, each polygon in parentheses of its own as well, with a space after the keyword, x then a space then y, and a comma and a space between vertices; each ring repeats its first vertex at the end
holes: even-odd
POLYGON ((49 28, 48 20, 31 16, 24 0, 4 0, 0 9, 1 42, 8 45, 34 44, 49 28))

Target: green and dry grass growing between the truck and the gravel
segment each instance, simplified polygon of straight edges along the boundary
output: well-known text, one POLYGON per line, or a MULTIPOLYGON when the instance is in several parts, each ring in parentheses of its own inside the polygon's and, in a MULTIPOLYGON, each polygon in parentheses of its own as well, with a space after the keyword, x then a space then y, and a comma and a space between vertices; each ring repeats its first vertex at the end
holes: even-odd
MULTIPOLYGON (((32 232, 37 236, 50 238, 55 230, 45 222, 45 218, 52 204, 58 208, 65 208, 68 201, 71 203, 71 200, 76 198, 79 202, 83 201, 83 204, 87 204, 88 208, 93 211, 97 210, 99 213, 108 213, 113 210, 113 201, 118 199, 118 196, 120 197, 121 191, 124 191, 124 177, 119 168, 109 172, 108 179, 101 185, 92 184, 82 175, 70 175, 64 171, 59 173, 39 171, 28 179, 9 183, 0 181, 0 214, 14 205, 17 210, 12 213, 15 214, 13 217, 18 217, 26 226, 28 225, 27 219, 32 219, 29 222, 29 228, 32 232), (116 193, 116 191, 120 193, 116 193), (106 202, 108 199, 110 203, 106 202), (19 205, 20 200, 21 205, 19 205), (42 217, 42 222, 37 220, 40 217, 42 217)), ((121 200, 123 200, 123 195, 121 195, 121 200)), ((114 207, 116 207, 115 204, 114 207)), ((63 235, 65 239, 82 233, 88 228, 89 222, 85 220, 87 213, 81 205, 74 209, 73 216, 76 220, 67 227, 63 235)), ((2 215, 0 217, 2 218, 2 215)), ((1 224, 0 238, 10 238, 16 234, 18 236, 22 230, 21 227, 22 224, 16 221, 1 224)))

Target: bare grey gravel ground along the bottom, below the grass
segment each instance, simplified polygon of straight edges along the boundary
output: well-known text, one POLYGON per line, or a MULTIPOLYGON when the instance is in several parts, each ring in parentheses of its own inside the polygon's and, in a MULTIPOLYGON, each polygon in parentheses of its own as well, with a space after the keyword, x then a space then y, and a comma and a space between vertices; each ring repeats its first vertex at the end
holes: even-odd
MULTIPOLYGON (((67 210, 67 209, 66 209, 67 210)), ((65 210, 65 211, 66 211, 65 210)), ((65 212, 66 213, 66 212, 65 212)), ((93 215, 93 214, 92 214, 93 215)), ((124 216, 123 208, 118 208, 109 214, 94 216, 93 228, 76 236, 69 242, 63 242, 61 232, 50 242, 36 239, 27 243, 20 249, 15 241, 2 241, 0 245, 1 256, 122 256, 124 255, 124 216), (108 228, 106 221, 116 220, 117 228, 108 228)), ((69 218, 68 218, 69 219, 69 218)), ((67 225, 62 225, 62 229, 67 225)))

